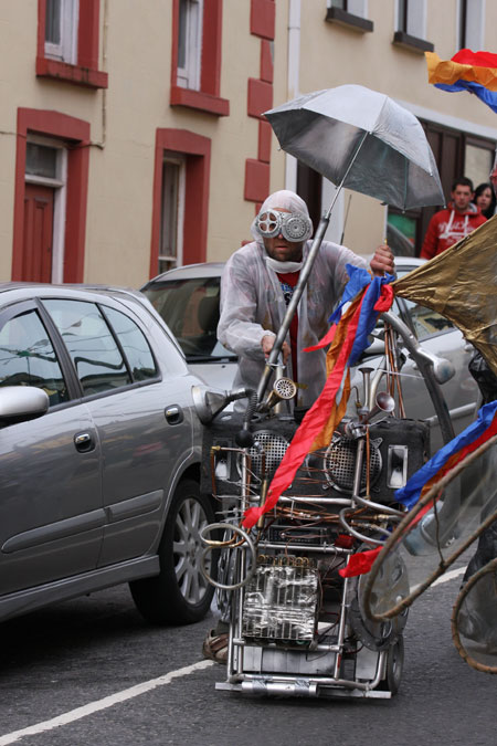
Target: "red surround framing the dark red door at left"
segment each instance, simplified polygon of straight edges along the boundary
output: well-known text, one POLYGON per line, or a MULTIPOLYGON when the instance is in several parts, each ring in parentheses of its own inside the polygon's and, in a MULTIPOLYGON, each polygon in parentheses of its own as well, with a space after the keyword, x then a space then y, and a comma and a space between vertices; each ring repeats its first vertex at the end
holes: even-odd
POLYGON ((35 108, 18 109, 12 280, 22 280, 24 245, 25 146, 28 133, 57 137, 71 144, 64 233, 64 282, 83 282, 86 203, 88 193, 89 123, 35 108))

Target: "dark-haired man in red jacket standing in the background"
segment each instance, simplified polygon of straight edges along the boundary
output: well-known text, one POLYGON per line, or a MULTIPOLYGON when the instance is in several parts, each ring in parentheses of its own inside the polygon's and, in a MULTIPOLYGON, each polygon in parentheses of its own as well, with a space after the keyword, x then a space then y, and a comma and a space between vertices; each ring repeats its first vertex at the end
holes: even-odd
POLYGON ((422 259, 432 259, 441 254, 486 222, 480 209, 473 204, 473 198, 470 179, 462 177, 454 181, 448 207, 435 212, 429 223, 420 254, 422 259))

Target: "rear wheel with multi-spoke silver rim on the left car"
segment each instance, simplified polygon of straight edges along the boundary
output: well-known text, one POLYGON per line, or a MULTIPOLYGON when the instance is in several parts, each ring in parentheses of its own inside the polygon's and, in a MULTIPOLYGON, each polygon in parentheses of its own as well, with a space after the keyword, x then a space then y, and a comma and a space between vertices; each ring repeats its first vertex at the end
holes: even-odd
MULTIPOLYGON (((214 588, 200 569, 203 545, 199 532, 210 523, 214 523, 214 512, 209 498, 200 494, 198 483, 180 482, 158 549, 160 572, 129 584, 134 601, 147 621, 191 624, 208 612, 214 588)), ((215 577, 216 554, 209 553, 205 560, 211 577, 215 577)))

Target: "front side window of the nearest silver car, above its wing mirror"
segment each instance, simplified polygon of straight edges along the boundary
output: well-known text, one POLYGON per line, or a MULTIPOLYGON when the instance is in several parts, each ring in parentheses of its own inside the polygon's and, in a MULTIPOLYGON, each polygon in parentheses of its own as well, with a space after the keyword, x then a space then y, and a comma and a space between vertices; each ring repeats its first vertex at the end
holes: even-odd
POLYGON ((0 386, 35 386, 50 404, 68 400, 62 369, 36 311, 9 318, 0 329, 0 386))

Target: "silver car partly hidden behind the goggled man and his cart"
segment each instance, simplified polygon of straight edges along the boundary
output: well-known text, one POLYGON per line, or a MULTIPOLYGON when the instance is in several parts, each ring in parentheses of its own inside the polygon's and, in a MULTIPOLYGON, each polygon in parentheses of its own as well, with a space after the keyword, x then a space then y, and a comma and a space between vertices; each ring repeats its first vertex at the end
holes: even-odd
MULTIPOLYGON (((423 263, 413 256, 395 256, 398 275, 406 274, 423 263)), ((220 277, 223 263, 193 264, 170 270, 147 283, 142 292, 168 324, 181 345, 190 368, 210 386, 230 389, 236 357, 216 339, 220 277)), ((415 334, 429 353, 447 359, 454 369, 442 386, 455 432, 461 432, 475 417, 478 388, 468 371, 474 354, 472 345, 451 322, 434 311, 403 298, 396 298, 392 311, 415 334)), ((361 364, 378 369, 383 345, 373 343, 361 364)), ((352 371, 352 383, 362 380, 352 371)), ((427 420, 431 424, 432 451, 443 444, 432 400, 420 370, 411 359, 402 368, 405 417, 427 420)))

